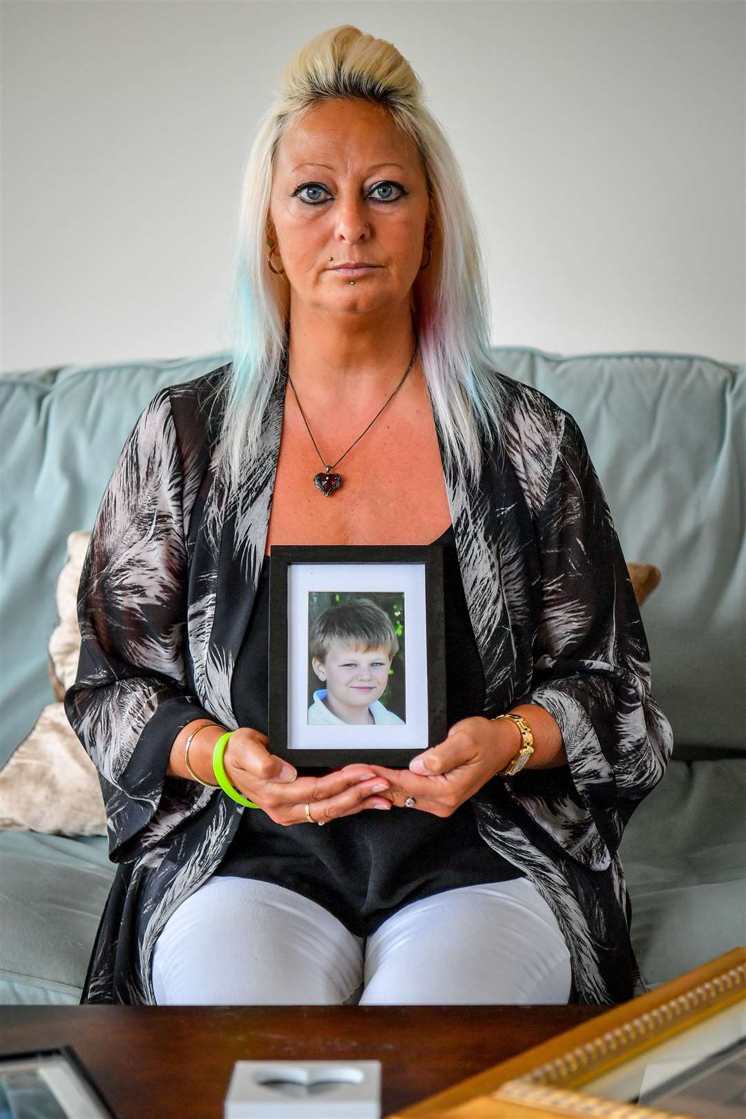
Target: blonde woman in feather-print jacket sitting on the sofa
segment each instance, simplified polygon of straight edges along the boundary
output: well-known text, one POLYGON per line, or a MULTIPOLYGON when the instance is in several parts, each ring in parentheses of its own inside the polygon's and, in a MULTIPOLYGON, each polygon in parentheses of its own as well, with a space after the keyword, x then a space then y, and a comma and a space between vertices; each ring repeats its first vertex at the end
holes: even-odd
POLYGON ((144 410, 83 568, 65 708, 117 871, 82 1003, 632 997, 617 850, 670 726, 583 435, 490 361, 460 171, 390 44, 291 59, 240 231, 234 360, 144 410), (272 754, 290 543, 443 545, 450 730, 408 770, 272 754), (226 731, 258 810, 216 788, 226 731))

